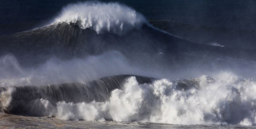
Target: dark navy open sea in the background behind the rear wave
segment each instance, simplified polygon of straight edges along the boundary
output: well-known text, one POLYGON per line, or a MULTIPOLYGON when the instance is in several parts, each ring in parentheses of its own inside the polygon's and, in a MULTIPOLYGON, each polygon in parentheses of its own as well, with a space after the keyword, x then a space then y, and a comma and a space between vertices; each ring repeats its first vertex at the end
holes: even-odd
MULTIPOLYGON (((10 0, 0 5, 0 35, 47 25, 63 6, 83 0, 10 0)), ((126 4, 147 19, 169 19, 200 26, 256 29, 253 0, 103 0, 126 4)))

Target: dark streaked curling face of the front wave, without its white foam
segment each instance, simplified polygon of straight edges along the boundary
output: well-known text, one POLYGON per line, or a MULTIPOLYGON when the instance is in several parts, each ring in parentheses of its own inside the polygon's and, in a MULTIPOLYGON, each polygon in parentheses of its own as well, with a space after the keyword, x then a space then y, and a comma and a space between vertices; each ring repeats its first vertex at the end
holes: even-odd
MULTIPOLYGON (((0 107, 2 111, 9 113, 25 113, 27 115, 43 115, 44 111, 33 111, 35 101, 47 100, 56 105, 57 102, 65 101, 72 103, 80 102, 104 102, 109 100, 110 93, 115 89, 123 89, 126 79, 135 77, 138 84, 149 84, 155 79, 144 76, 117 75, 104 77, 86 83, 74 82, 66 84, 52 84, 43 86, 14 86, 0 87, 0 107)), ((176 89, 188 90, 198 88, 198 80, 176 80, 176 89)), ((38 105, 37 105, 38 106, 38 105)), ((42 109, 42 108, 39 108, 42 109)))

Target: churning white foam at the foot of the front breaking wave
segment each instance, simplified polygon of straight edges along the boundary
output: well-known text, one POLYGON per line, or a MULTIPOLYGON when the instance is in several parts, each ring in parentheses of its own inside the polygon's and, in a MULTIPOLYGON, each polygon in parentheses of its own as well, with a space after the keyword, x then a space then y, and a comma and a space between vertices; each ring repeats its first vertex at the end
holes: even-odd
POLYGON ((111 92, 109 101, 58 102, 56 107, 49 106, 48 100, 37 102, 44 105, 47 115, 65 120, 255 125, 256 82, 225 72, 214 78, 201 76, 199 89, 180 91, 167 79, 138 84, 130 77, 123 89, 111 92))

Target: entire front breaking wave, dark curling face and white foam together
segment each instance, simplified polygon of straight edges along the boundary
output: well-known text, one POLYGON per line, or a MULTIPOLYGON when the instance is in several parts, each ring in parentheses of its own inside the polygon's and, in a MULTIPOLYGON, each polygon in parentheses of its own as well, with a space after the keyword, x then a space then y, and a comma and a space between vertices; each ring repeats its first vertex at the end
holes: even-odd
POLYGON ((64 120, 255 125, 256 82, 226 72, 215 79, 118 75, 85 84, 1 88, 1 109, 64 120))

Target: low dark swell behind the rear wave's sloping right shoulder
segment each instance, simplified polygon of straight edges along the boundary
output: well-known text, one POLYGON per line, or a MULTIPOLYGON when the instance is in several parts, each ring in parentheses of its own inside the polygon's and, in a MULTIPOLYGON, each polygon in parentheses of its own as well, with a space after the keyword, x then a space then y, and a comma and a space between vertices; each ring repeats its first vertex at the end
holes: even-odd
POLYGON ((222 45, 229 48, 256 48, 255 30, 206 27, 171 20, 149 20, 149 22, 159 29, 202 44, 222 45))

